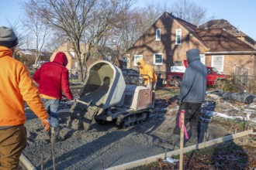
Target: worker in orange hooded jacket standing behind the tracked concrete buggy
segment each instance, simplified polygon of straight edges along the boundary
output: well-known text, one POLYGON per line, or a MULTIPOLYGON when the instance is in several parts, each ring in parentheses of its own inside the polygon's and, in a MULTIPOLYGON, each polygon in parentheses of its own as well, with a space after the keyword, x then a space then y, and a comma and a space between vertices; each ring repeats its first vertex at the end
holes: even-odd
POLYGON ((157 74, 154 72, 153 66, 145 64, 143 59, 138 59, 137 66, 140 68, 140 74, 147 74, 144 76, 144 84, 152 90, 152 107, 154 107, 154 93, 157 83, 157 74))

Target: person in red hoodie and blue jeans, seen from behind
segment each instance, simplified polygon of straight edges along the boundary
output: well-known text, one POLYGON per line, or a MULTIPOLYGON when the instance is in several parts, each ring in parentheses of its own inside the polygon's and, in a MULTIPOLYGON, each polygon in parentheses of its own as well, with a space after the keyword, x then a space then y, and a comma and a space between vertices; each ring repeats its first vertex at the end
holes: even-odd
POLYGON ((42 97, 44 107, 50 116, 50 141, 54 144, 59 135, 59 113, 62 92, 68 100, 73 100, 69 87, 67 56, 65 53, 57 53, 54 61, 43 63, 36 70, 33 79, 39 85, 39 93, 42 97))

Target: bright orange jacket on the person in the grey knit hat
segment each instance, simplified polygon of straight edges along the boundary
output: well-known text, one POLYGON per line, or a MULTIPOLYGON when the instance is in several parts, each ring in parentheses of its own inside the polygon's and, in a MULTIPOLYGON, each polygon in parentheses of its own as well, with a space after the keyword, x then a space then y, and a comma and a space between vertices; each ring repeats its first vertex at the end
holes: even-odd
POLYGON ((25 123, 24 100, 37 117, 48 118, 29 71, 5 46, 0 46, 0 72, 0 127, 25 123))

